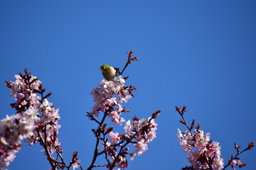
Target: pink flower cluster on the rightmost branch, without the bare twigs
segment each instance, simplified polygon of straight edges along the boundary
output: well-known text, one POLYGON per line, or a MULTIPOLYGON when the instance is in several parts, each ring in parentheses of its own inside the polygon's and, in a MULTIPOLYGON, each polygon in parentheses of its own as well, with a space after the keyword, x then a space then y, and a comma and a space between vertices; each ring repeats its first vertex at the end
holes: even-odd
POLYGON ((220 158, 220 146, 218 142, 211 143, 210 133, 203 135, 203 130, 198 128, 191 132, 178 130, 178 141, 183 152, 188 153, 188 162, 195 169, 223 169, 223 159, 220 158))

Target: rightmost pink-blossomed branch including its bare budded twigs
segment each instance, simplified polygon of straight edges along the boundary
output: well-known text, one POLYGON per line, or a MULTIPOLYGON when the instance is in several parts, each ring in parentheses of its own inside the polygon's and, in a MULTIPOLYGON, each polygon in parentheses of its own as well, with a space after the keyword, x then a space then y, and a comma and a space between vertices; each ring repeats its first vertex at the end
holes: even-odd
POLYGON ((252 149, 252 147, 254 147, 253 142, 250 142, 248 147, 242 150, 242 152, 239 151, 240 146, 238 147, 238 145, 235 143, 237 154, 235 157, 232 155, 231 159, 228 161, 228 164, 224 166, 223 158, 220 158, 219 143, 215 141, 212 142, 212 140, 210 140, 210 133, 206 133, 206 135, 204 135, 203 130, 200 130, 199 124, 196 126, 196 130, 194 130, 194 132, 192 131, 195 127, 195 120, 193 120, 191 125, 188 126, 185 118, 183 117, 183 114, 186 113, 186 106, 184 106, 182 109, 176 106, 176 111, 181 115, 182 120, 180 120, 180 123, 186 125, 186 128, 189 130, 189 132, 187 130, 181 132, 181 130, 178 129, 177 134, 178 141, 183 148, 183 152, 189 153, 188 162, 191 163, 191 166, 183 167, 184 170, 224 170, 228 166, 232 166, 232 168, 235 169, 235 165, 239 168, 242 168, 246 165, 245 163, 240 162, 238 155, 242 154, 242 152, 245 152, 248 149, 252 149))

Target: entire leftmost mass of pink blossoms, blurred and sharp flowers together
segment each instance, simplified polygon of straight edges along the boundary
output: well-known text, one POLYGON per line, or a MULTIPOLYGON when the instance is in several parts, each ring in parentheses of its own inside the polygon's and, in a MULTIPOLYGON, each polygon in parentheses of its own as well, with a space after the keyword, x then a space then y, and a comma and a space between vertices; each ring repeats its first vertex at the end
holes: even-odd
POLYGON ((25 141, 29 145, 41 142, 49 161, 52 159, 49 158, 50 154, 57 149, 60 152, 61 149, 57 136, 60 115, 53 103, 46 99, 51 93, 43 96, 45 89, 41 81, 33 77, 27 69, 24 69, 24 72, 24 75, 15 75, 15 81, 6 81, 11 96, 16 100, 16 103, 11 103, 11 106, 16 108, 16 115, 1 120, 0 167, 9 166, 9 162, 14 160, 23 138, 26 138, 25 141))

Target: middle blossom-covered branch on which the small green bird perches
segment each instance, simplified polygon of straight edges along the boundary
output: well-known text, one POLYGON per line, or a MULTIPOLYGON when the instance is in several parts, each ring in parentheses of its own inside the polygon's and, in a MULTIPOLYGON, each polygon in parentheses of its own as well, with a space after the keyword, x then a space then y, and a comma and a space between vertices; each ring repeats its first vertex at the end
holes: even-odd
MULTIPOLYGON (((133 55, 132 51, 127 53, 129 57, 124 69, 132 61, 137 60, 137 57, 131 57, 133 55)), ((133 160, 137 154, 140 155, 145 152, 149 142, 156 137, 157 124, 154 122, 154 119, 159 115, 160 111, 156 111, 151 117, 146 119, 139 119, 135 116, 132 119, 132 123, 130 120, 127 120, 123 134, 113 132, 113 127, 107 128, 107 123, 105 123, 107 118, 110 118, 114 125, 122 125, 125 122, 124 118, 122 118, 122 113, 129 113, 130 111, 125 107, 123 108, 122 103, 132 98, 134 96, 133 91, 137 90, 132 85, 124 85, 125 79, 128 78, 122 78, 124 69, 122 72, 116 69, 119 76, 114 78, 113 81, 103 79, 98 84, 99 87, 91 92, 95 106, 91 108, 87 116, 98 124, 98 128, 92 129, 97 140, 95 153, 88 170, 97 166, 106 166, 107 169, 114 169, 116 166, 122 169, 127 168, 127 155, 130 155, 130 160, 133 160), (103 113, 102 119, 97 120, 100 113, 103 113), (101 151, 99 151, 100 142, 102 144, 101 151), (129 152, 128 144, 133 144, 133 152, 129 152), (104 155, 107 164, 95 165, 96 159, 100 155, 104 155)))

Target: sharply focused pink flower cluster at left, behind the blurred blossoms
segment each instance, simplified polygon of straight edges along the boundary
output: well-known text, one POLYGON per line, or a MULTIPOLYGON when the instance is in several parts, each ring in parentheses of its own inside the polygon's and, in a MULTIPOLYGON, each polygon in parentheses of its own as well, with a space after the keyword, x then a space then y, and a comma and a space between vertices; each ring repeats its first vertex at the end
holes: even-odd
MULTIPOLYGON (((25 70, 26 72, 26 70, 25 70)), ((26 142, 29 145, 40 141, 38 132, 46 140, 45 142, 51 144, 50 153, 53 153, 56 146, 59 146, 60 143, 57 139, 58 129, 58 120, 60 116, 58 114, 58 109, 55 110, 53 103, 49 103, 46 99, 46 96, 43 98, 38 94, 43 94, 43 86, 41 81, 36 77, 29 75, 26 72, 26 77, 22 74, 15 75, 16 81, 9 81, 8 86, 10 87, 11 96, 14 96, 16 103, 11 105, 16 108, 17 114, 21 114, 22 117, 24 113, 28 112, 33 115, 34 121, 31 123, 35 126, 31 135, 26 137, 26 142), (34 108, 35 111, 31 109, 34 108), (41 113, 41 114, 39 114, 41 113), (53 140, 53 138, 55 138, 53 140)), ((48 94, 50 96, 50 94, 48 94)))

